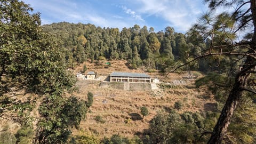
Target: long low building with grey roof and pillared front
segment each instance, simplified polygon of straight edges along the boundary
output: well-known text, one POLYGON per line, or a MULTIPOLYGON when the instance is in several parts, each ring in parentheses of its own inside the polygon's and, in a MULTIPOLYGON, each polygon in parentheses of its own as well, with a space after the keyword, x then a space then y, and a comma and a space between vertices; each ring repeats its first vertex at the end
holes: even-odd
POLYGON ((110 82, 150 83, 151 77, 142 73, 116 72, 110 74, 110 82))

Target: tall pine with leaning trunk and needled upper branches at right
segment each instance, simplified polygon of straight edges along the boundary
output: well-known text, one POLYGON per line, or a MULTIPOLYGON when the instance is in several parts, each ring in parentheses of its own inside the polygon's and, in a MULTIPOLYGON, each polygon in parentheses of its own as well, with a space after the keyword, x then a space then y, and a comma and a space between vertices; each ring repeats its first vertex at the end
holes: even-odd
POLYGON ((237 105, 239 105, 240 99, 244 96, 244 92, 256 93, 253 90, 255 85, 250 83, 252 81, 250 76, 255 76, 256 66, 256 1, 205 0, 205 2, 209 4, 211 10, 224 6, 227 9, 234 7, 234 11, 222 12, 217 17, 212 17, 211 13, 205 13, 201 18, 201 23, 194 25, 192 30, 197 31, 204 38, 210 39, 209 49, 197 59, 214 55, 226 55, 236 58, 233 65, 241 62, 241 67, 236 67, 237 70, 231 67, 230 71, 234 71, 234 81, 208 142, 221 143, 227 134, 231 117, 237 105), (250 28, 253 30, 251 31, 250 28), (241 42, 236 42, 235 34, 240 30, 248 30, 249 34, 246 36, 249 37, 245 37, 241 42))

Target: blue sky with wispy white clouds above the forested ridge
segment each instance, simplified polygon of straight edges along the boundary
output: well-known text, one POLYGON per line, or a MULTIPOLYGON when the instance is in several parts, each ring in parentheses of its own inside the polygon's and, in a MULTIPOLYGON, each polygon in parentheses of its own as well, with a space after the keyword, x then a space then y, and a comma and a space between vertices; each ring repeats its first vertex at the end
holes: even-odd
POLYGON ((173 27, 186 33, 207 6, 202 0, 23 0, 41 13, 42 24, 91 23, 100 27, 153 27, 155 32, 173 27))

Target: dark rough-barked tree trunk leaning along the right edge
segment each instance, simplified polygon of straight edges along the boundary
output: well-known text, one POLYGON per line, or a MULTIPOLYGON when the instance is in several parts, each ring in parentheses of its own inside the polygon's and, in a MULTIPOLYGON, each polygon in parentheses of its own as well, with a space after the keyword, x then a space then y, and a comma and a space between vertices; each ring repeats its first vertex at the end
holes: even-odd
MULTIPOLYGON (((249 53, 255 55, 256 50, 256 0, 251 0, 251 12, 254 25, 254 33, 252 38, 252 48, 249 53)), ((250 71, 255 69, 255 59, 247 57, 242 70, 236 75, 233 89, 228 95, 228 99, 223 107, 217 124, 214 127, 211 138, 208 143, 221 143, 222 139, 227 133, 228 125, 231 121, 231 117, 234 114, 236 106, 239 103, 239 98, 242 97, 243 88, 246 87, 247 79, 250 77, 250 71)))

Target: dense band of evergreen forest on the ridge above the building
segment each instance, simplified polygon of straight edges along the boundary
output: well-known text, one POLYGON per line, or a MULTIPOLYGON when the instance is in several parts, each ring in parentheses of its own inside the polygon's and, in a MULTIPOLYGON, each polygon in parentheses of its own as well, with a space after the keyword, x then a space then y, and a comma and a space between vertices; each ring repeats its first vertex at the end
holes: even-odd
MULTIPOLYGON (((193 39, 193 35, 175 33, 172 27, 155 32, 146 26, 132 28, 101 28, 83 23, 52 23, 44 25, 44 31, 60 39, 66 51, 69 66, 102 59, 127 60, 131 68, 146 66, 165 70, 175 62, 186 62, 206 49, 203 38, 193 39)), ((197 66, 190 66, 193 69, 197 66)), ((202 68, 203 69, 203 68, 202 68)))

